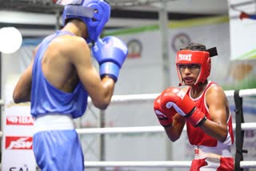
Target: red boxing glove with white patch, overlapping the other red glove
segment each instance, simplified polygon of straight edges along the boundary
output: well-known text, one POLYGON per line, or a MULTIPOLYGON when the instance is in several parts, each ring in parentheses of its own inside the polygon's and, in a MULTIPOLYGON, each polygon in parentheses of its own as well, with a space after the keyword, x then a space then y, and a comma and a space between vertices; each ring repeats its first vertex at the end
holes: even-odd
POLYGON ((164 106, 167 109, 174 108, 179 114, 186 117, 186 120, 194 127, 202 125, 206 121, 206 115, 195 106, 194 101, 182 89, 169 87, 162 94, 162 108, 164 106))

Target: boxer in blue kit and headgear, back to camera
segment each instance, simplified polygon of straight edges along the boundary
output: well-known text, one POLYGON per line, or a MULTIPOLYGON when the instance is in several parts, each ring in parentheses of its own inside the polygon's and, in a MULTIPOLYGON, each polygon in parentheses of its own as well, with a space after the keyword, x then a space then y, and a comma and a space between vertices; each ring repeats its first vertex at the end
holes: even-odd
POLYGON ((82 171, 84 158, 74 118, 86 111, 87 97, 106 109, 114 93, 127 47, 115 37, 99 38, 110 18, 104 0, 71 1, 63 11, 62 30, 34 50, 30 66, 14 88, 14 102, 31 101, 33 150, 42 171, 82 171), (99 74, 91 62, 99 64, 99 74))

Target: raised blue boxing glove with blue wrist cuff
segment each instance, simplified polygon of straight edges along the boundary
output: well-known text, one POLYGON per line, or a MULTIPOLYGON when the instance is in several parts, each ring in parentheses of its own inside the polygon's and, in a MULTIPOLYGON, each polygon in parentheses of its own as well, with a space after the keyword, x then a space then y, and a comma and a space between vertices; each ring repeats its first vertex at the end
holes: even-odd
POLYGON ((99 64, 101 78, 108 76, 117 82, 119 70, 128 54, 126 44, 114 36, 98 38, 92 47, 92 54, 99 64))

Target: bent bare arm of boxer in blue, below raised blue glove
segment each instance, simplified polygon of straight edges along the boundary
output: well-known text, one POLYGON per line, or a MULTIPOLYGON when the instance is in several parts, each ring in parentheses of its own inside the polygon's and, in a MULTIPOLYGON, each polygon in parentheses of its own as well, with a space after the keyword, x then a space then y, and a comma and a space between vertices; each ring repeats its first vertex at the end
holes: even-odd
POLYGON ((100 78, 92 64, 90 48, 82 38, 75 38, 69 44, 70 62, 78 72, 78 77, 89 93, 94 105, 99 109, 106 109, 114 92, 112 78, 100 78))

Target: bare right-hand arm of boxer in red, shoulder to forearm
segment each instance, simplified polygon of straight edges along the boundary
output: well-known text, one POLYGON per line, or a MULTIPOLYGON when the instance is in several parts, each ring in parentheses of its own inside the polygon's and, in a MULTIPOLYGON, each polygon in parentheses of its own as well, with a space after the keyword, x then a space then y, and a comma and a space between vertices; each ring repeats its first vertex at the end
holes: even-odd
POLYGON ((208 89, 206 104, 209 107, 210 120, 207 119, 200 126, 201 129, 218 141, 225 141, 228 133, 227 120, 230 115, 230 109, 224 90, 218 85, 208 89))

